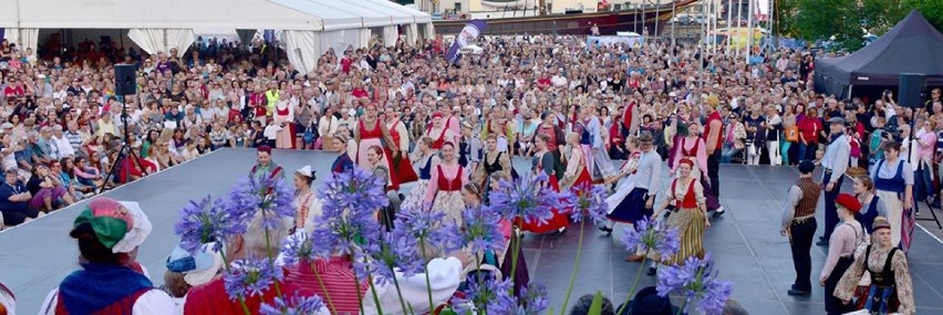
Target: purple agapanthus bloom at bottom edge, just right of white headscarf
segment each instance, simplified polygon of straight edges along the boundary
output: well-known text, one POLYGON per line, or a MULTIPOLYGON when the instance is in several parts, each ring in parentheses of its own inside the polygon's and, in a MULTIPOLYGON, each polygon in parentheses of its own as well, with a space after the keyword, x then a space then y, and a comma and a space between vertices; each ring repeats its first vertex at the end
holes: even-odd
POLYGON ((453 297, 452 303, 458 314, 511 315, 517 311, 510 295, 511 281, 496 280, 493 276, 480 281, 469 281, 465 298, 453 297), (478 313, 476 311, 484 312, 478 313))

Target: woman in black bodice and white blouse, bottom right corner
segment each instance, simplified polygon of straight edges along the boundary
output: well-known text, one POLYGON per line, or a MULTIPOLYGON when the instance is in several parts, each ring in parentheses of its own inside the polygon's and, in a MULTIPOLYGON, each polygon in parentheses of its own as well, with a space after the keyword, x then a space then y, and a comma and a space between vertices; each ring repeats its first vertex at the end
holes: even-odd
POLYGON ((891 224, 888 219, 877 217, 872 228, 874 243, 856 250, 854 262, 838 281, 835 291, 826 294, 833 294, 842 303, 851 303, 856 292, 861 292, 856 309, 868 312, 862 314, 916 314, 910 266, 906 255, 891 244, 891 224), (868 272, 870 281, 860 290, 862 287, 858 284, 864 272, 868 272))

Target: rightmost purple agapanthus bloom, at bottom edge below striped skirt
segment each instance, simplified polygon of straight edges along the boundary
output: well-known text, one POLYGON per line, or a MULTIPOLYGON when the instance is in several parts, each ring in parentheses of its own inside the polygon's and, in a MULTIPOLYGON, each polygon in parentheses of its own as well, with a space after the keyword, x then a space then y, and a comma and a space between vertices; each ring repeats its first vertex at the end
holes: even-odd
POLYGON ((661 296, 681 294, 687 302, 686 305, 697 300, 697 309, 708 315, 722 314, 724 304, 734 291, 730 282, 717 280, 711 254, 706 254, 704 259, 688 258, 683 265, 664 267, 659 274, 656 288, 661 296))

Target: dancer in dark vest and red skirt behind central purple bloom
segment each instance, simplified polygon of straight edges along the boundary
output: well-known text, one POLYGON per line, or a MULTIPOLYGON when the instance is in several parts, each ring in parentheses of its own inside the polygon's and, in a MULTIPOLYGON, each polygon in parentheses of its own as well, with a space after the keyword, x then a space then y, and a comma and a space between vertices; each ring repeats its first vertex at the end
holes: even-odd
MULTIPOLYGON (((550 150, 547 149, 547 144, 550 141, 550 135, 547 134, 538 134, 535 141, 533 148, 536 153, 533 154, 532 167, 533 176, 538 176, 541 172, 547 175, 547 185, 550 186, 555 191, 560 191, 560 185, 557 181, 557 176, 553 174, 553 155, 550 154, 550 150)), ((553 209, 553 217, 547 220, 547 223, 541 224, 540 222, 517 222, 522 231, 529 231, 532 233, 548 233, 553 231, 561 231, 567 229, 570 225, 570 219, 567 216, 567 212, 562 209, 553 209)))

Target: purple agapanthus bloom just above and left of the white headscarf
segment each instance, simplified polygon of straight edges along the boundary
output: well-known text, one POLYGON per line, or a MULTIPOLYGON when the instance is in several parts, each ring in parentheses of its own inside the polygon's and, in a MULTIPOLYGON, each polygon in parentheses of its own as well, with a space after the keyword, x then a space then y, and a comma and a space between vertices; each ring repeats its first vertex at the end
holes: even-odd
POLYGON ((373 279, 381 285, 393 282, 396 271, 408 277, 424 269, 424 260, 418 252, 418 240, 402 227, 383 233, 380 243, 372 246, 367 254, 370 255, 367 267, 372 271, 373 279))

